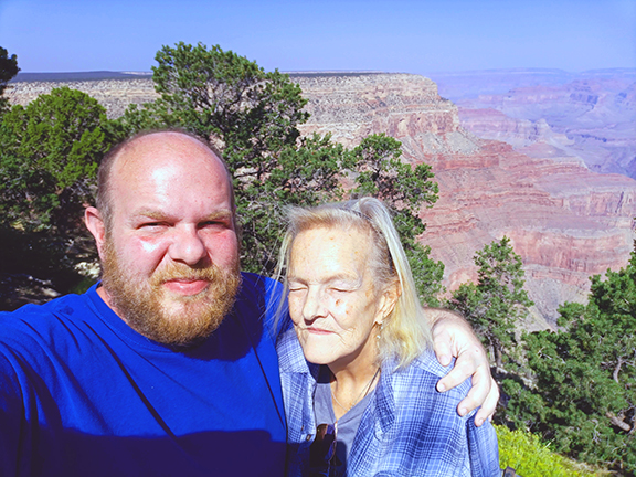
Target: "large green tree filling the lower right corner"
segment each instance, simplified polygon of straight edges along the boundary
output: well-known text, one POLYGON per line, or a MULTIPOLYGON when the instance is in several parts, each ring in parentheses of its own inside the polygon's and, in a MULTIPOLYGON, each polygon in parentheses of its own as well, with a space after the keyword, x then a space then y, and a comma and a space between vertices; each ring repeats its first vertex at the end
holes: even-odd
POLYGON ((587 305, 559 311, 561 330, 528 337, 532 386, 505 383, 508 418, 574 458, 636 475, 636 252, 592 277, 587 305))

